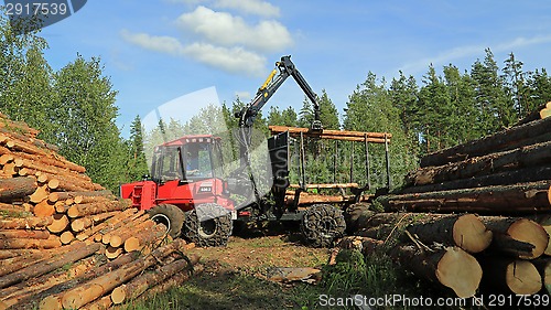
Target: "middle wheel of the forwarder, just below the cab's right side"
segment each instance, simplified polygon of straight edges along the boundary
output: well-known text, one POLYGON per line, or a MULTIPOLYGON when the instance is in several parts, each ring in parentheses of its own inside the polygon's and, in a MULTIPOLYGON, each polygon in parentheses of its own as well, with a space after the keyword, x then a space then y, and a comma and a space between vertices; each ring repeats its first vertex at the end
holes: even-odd
POLYGON ((225 246, 233 229, 231 214, 216 203, 204 203, 186 213, 184 236, 197 246, 225 246), (197 210, 201 220, 197 216, 197 210))

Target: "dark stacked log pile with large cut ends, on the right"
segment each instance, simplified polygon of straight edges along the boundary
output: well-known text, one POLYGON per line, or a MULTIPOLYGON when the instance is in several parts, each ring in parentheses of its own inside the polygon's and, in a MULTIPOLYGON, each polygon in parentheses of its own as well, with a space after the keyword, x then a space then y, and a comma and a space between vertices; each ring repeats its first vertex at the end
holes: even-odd
POLYGON ((339 246, 385 252, 458 297, 551 293, 550 110, 422 158, 339 246))

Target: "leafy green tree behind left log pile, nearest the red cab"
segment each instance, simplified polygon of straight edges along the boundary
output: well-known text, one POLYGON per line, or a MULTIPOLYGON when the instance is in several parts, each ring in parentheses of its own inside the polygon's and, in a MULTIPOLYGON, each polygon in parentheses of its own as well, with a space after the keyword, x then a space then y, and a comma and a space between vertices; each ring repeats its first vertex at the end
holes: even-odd
POLYGON ((95 182, 116 191, 126 174, 127 152, 115 124, 117 92, 102 75, 100 60, 78 55, 55 75, 54 90, 53 142, 67 159, 86 167, 95 182))

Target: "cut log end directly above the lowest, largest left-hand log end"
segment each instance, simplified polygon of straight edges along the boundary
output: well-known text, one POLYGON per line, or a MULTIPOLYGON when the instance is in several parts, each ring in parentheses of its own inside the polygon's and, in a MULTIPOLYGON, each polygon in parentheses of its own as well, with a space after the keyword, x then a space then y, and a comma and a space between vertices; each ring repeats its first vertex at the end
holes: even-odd
POLYGON ((469 253, 479 253, 491 243, 493 233, 474 214, 457 218, 453 226, 453 239, 457 246, 469 253))

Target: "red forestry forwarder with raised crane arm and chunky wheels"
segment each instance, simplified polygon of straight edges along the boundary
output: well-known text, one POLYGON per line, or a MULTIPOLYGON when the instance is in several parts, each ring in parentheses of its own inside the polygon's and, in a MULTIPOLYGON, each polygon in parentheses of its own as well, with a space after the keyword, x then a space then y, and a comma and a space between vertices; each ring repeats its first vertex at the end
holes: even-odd
MULTIPOLYGON (((155 147, 151 178, 121 185, 121 196, 131 199, 133 206, 147 210, 152 218, 166 225, 171 236, 183 234, 198 246, 227 244, 235 220, 301 221, 301 231, 309 244, 331 245, 345 232, 343 211, 328 204, 300 207, 300 194, 306 190, 304 178, 294 192, 295 199, 289 200, 290 132, 268 139, 273 177, 271 191, 268 194, 260 193, 251 177, 252 124, 260 109, 289 76, 296 81, 313 103, 314 121, 307 135, 320 136, 323 127, 317 96, 295 68, 291 56, 283 56, 276 63, 276 68, 251 103, 236 114, 239 118, 239 138, 236 140, 239 141, 240 168, 231 177, 223 180, 217 174, 223 165, 220 138, 210 135, 184 136, 155 147), (234 193, 248 196, 250 203, 238 205, 230 197, 234 193)), ((303 135, 300 137, 302 143, 303 135)), ((304 171, 302 152, 300 159, 299 171, 304 171)), ((367 188, 356 189, 348 202, 357 202, 367 188)))

